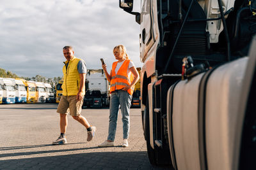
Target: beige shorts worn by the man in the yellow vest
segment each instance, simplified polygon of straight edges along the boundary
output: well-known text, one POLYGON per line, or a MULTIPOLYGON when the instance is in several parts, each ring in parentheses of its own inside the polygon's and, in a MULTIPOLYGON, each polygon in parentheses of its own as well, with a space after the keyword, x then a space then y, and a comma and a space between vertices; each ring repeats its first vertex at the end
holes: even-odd
POLYGON ((77 101, 76 96, 61 96, 57 113, 68 114, 70 112, 71 116, 79 116, 81 115, 83 101, 83 99, 77 101))

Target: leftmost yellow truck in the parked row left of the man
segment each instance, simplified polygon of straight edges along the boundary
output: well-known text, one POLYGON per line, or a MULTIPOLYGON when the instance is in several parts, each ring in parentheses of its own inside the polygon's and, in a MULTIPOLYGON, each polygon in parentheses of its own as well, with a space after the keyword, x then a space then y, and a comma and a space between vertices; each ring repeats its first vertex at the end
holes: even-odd
POLYGON ((35 103, 36 97, 36 85, 33 81, 24 80, 22 78, 17 78, 17 80, 23 81, 26 91, 27 91, 27 103, 35 103))

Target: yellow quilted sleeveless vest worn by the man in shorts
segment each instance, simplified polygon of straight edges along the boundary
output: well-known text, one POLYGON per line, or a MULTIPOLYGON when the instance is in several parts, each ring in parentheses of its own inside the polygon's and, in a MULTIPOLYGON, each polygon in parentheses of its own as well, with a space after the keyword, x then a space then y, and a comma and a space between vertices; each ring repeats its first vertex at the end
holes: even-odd
MULTIPOLYGON (((61 86, 63 89, 62 95, 63 96, 76 96, 79 90, 79 73, 77 70, 77 64, 81 59, 77 59, 76 57, 73 57, 72 60, 66 60, 64 62, 65 66, 63 66, 63 75, 64 75, 64 81, 61 86), (68 64, 68 66, 67 66, 68 64)), ((82 94, 85 94, 85 89, 83 89, 82 94)))

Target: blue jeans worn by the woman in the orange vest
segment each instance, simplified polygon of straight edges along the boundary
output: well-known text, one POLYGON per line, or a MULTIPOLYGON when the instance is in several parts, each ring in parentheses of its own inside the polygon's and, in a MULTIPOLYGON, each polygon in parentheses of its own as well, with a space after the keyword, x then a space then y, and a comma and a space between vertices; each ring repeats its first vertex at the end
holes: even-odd
POLYGON ((123 138, 128 139, 130 130, 130 107, 132 96, 124 90, 116 90, 111 93, 109 104, 109 127, 108 140, 114 141, 116 134, 116 122, 118 117, 119 106, 122 112, 123 138))

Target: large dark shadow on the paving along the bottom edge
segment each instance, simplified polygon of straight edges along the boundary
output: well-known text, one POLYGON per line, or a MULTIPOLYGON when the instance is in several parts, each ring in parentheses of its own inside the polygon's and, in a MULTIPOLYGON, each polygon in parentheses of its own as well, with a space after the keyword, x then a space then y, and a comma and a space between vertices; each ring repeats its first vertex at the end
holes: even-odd
MULTIPOLYGON (((81 149, 86 150, 89 148, 81 149)), ((40 153, 42 152, 22 154, 40 153)), ((15 155, 19 154, 1 154, 0 157, 15 155)), ((0 160, 0 169, 170 169, 170 167, 151 166, 147 152, 90 152, 29 159, 0 160)))

